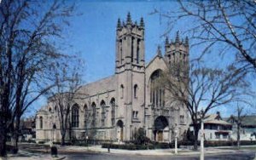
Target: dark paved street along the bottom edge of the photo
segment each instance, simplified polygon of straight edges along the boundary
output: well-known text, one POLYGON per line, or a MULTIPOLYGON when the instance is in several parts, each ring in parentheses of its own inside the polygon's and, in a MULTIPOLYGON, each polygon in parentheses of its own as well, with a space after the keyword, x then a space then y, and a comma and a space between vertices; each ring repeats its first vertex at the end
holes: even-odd
MULTIPOLYGON (((193 156, 138 156, 138 155, 116 155, 107 153, 69 153, 66 159, 90 159, 90 160, 198 160, 198 155, 193 156)), ((225 153, 219 155, 207 155, 206 160, 253 160, 255 151, 239 151, 236 153, 225 153)))

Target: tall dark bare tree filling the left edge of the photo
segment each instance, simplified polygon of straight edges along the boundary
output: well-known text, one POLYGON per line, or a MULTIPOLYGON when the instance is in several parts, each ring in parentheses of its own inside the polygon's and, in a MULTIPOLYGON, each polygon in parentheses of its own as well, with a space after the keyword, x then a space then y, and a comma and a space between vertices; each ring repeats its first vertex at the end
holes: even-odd
POLYGON ((17 147, 20 117, 55 84, 54 64, 61 33, 73 5, 61 1, 3 0, 0 4, 0 156, 6 155, 7 133, 17 147), (49 5, 48 5, 49 4, 49 5))

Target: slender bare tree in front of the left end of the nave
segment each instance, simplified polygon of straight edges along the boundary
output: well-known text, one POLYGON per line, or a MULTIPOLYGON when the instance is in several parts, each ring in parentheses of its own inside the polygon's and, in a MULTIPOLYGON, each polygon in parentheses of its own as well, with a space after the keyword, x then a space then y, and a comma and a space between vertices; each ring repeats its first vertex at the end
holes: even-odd
MULTIPOLYGON (((79 65, 78 65, 79 66, 79 65)), ((79 75, 79 67, 74 67, 73 70, 67 70, 67 67, 62 68, 55 74, 55 88, 51 89, 49 102, 55 106, 56 114, 61 130, 61 145, 65 145, 67 130, 71 138, 71 111, 75 104, 75 100, 83 98, 84 94, 80 94, 81 76, 79 75)))

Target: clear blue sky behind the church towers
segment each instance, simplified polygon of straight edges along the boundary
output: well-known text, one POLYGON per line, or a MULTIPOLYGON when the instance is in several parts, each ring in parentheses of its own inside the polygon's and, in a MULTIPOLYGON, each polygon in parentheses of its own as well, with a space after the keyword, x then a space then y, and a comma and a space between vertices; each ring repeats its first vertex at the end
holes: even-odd
MULTIPOLYGON (((73 1, 70 1, 73 2, 73 1)), ((70 20, 71 26, 65 32, 68 43, 73 48, 67 52, 79 52, 79 56, 85 62, 83 71, 84 83, 94 82, 102 77, 108 77, 114 73, 115 58, 115 34, 117 20, 126 20, 126 15, 131 12, 131 19, 139 21, 143 17, 145 21, 145 58, 146 62, 151 60, 156 54, 158 45, 162 47, 164 52, 164 42, 166 37, 161 37, 166 31, 166 20, 159 14, 150 14, 154 9, 171 10, 177 9, 176 3, 173 1, 122 1, 122 2, 106 2, 106 1, 77 1, 77 13, 70 20)), ((189 20, 178 24, 169 33, 169 38, 174 39, 176 31, 183 32, 183 28, 189 25, 189 20)), ((187 35, 181 34, 180 37, 187 35)), ((200 49, 190 50, 190 57, 200 54, 200 49)), ((219 60, 218 56, 211 57, 211 63, 219 65, 225 61, 219 60)), ((75 64, 74 64, 75 65, 75 64)), ((255 89, 254 89, 255 90, 255 89)), ((28 114, 33 114, 38 108, 46 104, 46 100, 41 98, 34 109, 28 114)), ((228 114, 229 108, 222 108, 222 114, 228 114)))

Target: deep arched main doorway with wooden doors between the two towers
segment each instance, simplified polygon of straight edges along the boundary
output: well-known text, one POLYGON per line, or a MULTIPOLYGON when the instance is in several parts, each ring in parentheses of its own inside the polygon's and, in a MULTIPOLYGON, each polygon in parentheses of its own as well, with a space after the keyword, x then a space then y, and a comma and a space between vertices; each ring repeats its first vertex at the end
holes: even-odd
POLYGON ((154 120, 154 140, 164 141, 168 139, 169 123, 166 117, 160 116, 154 120))

